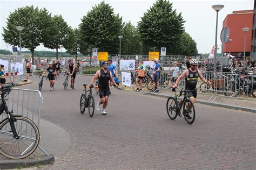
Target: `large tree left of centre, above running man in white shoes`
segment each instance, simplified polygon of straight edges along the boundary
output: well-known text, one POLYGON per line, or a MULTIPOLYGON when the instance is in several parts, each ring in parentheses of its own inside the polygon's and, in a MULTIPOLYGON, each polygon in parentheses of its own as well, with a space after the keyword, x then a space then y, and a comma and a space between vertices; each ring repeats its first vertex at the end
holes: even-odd
POLYGON ((81 44, 86 45, 82 51, 85 52, 90 47, 96 47, 100 52, 117 54, 119 51, 117 36, 121 33, 122 27, 122 18, 118 14, 114 15, 109 4, 103 1, 93 6, 79 25, 81 44))

